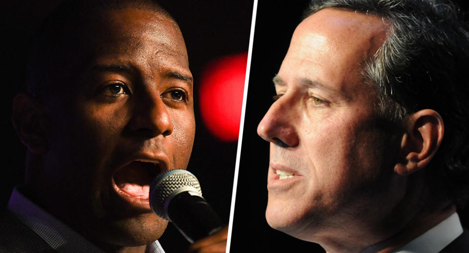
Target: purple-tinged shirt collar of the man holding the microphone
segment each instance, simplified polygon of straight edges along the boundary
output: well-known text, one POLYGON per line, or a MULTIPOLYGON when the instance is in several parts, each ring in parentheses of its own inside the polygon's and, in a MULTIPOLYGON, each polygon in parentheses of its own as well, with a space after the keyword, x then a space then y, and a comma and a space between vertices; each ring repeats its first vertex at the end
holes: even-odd
MULTIPOLYGON (((82 235, 24 197, 16 187, 13 189, 7 208, 59 253, 103 253, 82 235)), ((147 245, 146 252, 165 253, 158 241, 147 245)))

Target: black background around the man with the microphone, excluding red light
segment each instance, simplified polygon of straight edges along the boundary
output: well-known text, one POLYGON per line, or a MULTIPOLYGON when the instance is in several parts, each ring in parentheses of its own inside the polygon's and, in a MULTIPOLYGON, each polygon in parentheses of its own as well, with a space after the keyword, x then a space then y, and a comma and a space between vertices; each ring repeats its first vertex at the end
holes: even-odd
MULTIPOLYGON (((29 42, 43 18, 61 0, 2 1, 1 50, 1 160, 0 208, 14 185, 21 184, 25 147, 11 124, 12 98, 23 91, 29 42)), ((194 77, 196 133, 188 169, 197 176, 205 199, 228 224, 237 142, 223 142, 205 128, 198 111, 197 85, 208 62, 224 55, 248 51, 254 0, 159 1, 179 23, 194 77)), ((53 42, 51 42, 53 43, 53 42)), ((189 243, 170 224, 160 239, 167 253, 181 252, 189 243)))

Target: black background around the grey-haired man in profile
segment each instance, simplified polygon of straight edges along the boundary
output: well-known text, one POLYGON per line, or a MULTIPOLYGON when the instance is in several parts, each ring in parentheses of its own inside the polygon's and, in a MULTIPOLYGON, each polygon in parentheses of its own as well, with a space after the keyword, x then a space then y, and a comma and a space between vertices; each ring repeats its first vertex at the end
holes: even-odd
MULTIPOLYGON (((265 221, 269 143, 256 134, 257 124, 275 95, 277 74, 308 0, 259 0, 237 181, 230 252, 324 252, 317 244, 271 229, 265 221), (307 250, 303 250, 307 249, 307 250)), ((468 10, 466 0, 459 1, 468 10)), ((458 210, 468 228, 468 210, 458 210)), ((344 224, 346 226, 346 224, 344 224)))

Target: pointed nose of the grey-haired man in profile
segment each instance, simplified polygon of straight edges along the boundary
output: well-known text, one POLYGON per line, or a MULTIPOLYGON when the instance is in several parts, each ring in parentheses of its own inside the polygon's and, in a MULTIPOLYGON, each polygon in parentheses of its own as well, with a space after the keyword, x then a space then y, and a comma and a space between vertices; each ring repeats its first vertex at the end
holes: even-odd
POLYGON ((280 97, 269 108, 259 125, 257 134, 263 139, 280 146, 294 147, 299 143, 295 122, 298 115, 289 98, 280 97))

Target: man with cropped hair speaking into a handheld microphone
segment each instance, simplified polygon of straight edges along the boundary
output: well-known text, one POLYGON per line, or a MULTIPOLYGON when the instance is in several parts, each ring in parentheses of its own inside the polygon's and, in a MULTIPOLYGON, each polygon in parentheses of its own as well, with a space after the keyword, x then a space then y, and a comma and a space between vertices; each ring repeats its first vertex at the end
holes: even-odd
MULTIPOLYGON (((168 222, 151 212, 149 184, 186 169, 193 97, 184 39, 162 7, 61 6, 13 102, 26 171, 1 217, 0 252, 163 252, 168 222)), ((226 230, 195 245, 224 252, 226 230)))

